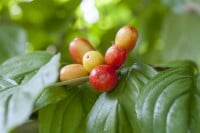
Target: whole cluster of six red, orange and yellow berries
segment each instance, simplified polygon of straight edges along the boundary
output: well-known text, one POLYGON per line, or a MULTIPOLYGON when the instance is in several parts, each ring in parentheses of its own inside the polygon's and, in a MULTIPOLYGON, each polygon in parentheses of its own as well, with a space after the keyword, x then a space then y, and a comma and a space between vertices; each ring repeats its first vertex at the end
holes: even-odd
POLYGON ((112 90, 118 81, 117 69, 126 60, 127 54, 135 47, 137 30, 123 26, 115 36, 105 57, 84 38, 75 38, 69 44, 69 53, 76 64, 64 66, 60 70, 60 80, 66 81, 89 75, 91 86, 98 91, 112 90))

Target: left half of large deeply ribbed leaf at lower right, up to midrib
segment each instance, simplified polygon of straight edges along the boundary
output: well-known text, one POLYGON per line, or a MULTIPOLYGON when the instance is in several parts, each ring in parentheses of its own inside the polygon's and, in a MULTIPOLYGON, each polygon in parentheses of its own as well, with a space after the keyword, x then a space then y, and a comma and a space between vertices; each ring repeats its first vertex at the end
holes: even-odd
POLYGON ((141 133, 187 133, 194 89, 192 67, 171 68, 151 79, 136 103, 141 133))

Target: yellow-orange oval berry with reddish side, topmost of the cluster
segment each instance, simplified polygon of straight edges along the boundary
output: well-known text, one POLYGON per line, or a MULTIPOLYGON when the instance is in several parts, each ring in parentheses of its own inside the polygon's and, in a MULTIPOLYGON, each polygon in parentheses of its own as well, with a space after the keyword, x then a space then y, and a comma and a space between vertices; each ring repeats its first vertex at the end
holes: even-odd
POLYGON ((133 26, 123 26, 119 29, 115 36, 115 44, 130 52, 136 45, 138 39, 138 31, 133 26))

